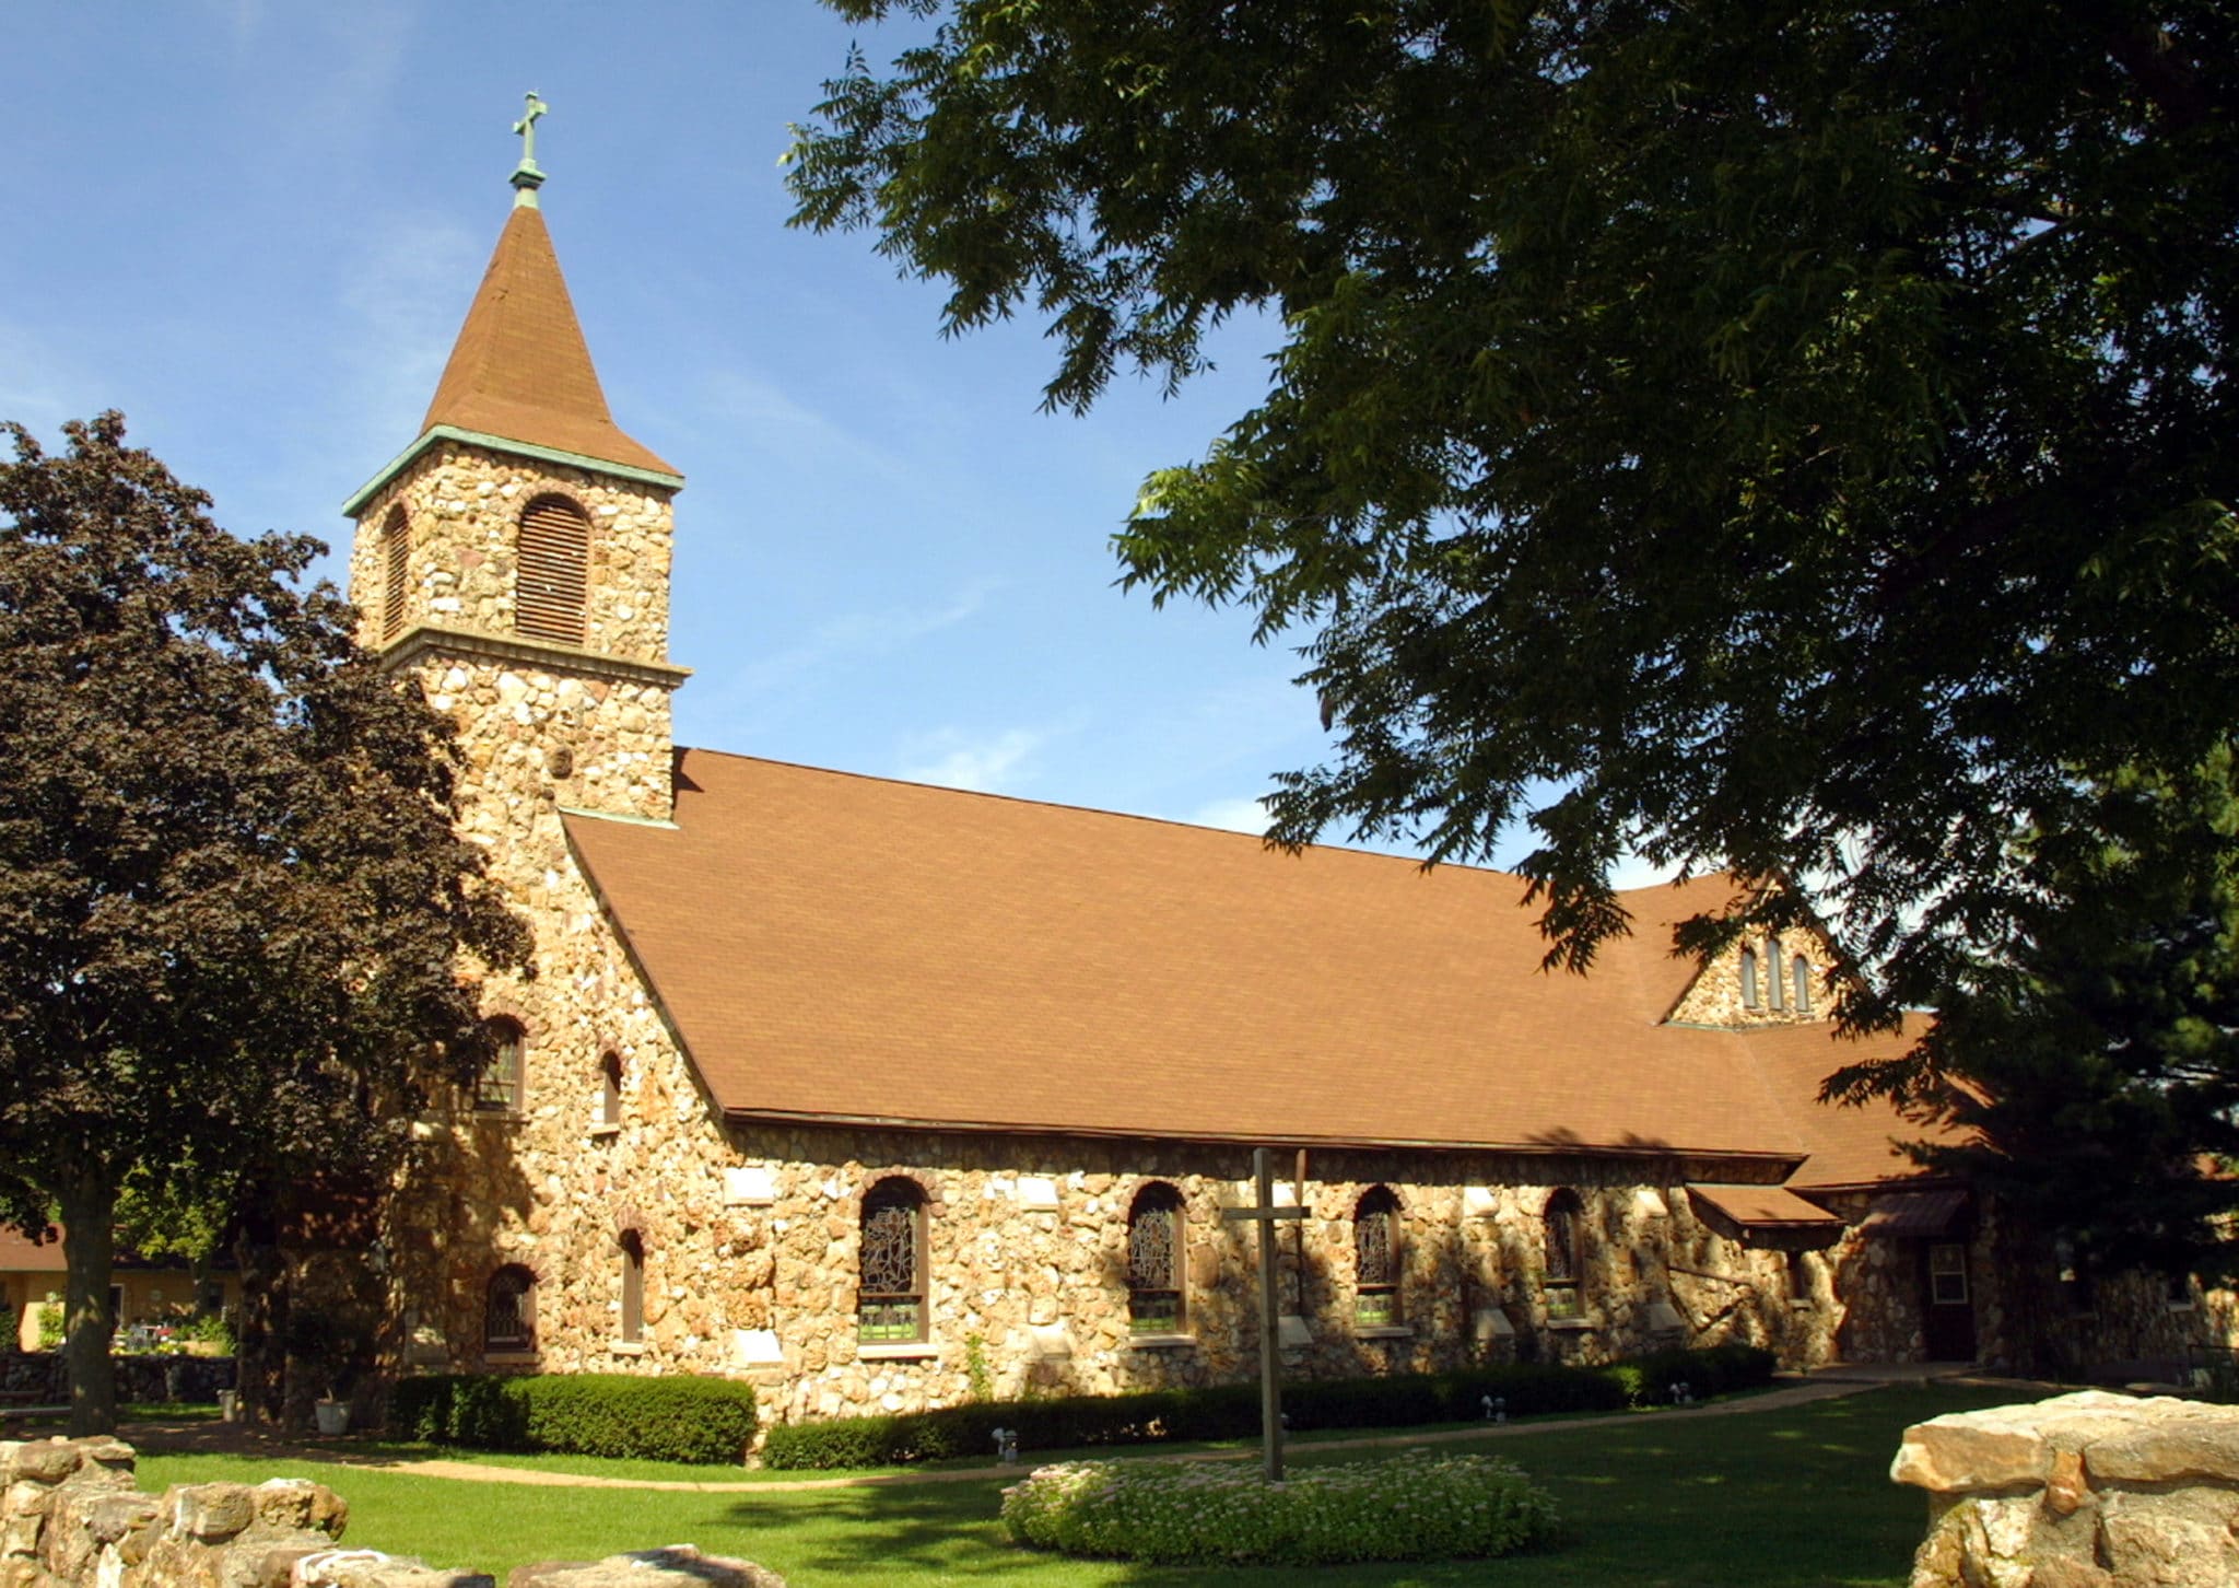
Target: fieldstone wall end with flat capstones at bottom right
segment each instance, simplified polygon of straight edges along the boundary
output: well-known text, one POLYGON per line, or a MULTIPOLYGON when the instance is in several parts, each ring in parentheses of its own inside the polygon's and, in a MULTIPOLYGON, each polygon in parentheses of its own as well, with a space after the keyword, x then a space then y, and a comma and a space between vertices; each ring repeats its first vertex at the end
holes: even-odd
POLYGON ((2239 1409, 2102 1391, 1905 1429, 1928 1489, 1912 1588, 2239 1581, 2239 1409))

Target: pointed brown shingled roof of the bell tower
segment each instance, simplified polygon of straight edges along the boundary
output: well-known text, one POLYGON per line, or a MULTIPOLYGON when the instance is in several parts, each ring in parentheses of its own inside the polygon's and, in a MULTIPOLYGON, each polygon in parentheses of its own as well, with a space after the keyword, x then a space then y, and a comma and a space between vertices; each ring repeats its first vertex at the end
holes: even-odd
POLYGON ((676 473, 607 412, 544 213, 531 206, 497 237, 421 432, 437 426, 676 473))

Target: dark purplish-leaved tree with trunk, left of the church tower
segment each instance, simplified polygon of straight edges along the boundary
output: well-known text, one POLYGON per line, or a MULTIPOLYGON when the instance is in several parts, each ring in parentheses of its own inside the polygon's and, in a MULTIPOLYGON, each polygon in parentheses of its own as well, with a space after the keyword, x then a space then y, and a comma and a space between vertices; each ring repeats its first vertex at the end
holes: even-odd
POLYGON ((0 1192, 65 1227, 72 1431, 114 1420, 128 1180, 378 1176, 486 1059, 459 950, 524 927, 452 833, 448 723, 119 414, 0 464, 0 1192))

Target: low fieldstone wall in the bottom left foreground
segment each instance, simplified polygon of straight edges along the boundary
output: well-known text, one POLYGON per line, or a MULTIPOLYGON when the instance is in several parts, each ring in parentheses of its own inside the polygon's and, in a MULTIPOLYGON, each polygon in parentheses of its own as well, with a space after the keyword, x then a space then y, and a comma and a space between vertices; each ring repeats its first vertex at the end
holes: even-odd
MULTIPOLYGON (((0 1588, 495 1588, 486 1572, 338 1548, 349 1507, 305 1478, 148 1494, 114 1438, 0 1440, 0 1588)), ((513 1588, 786 1588, 692 1545, 517 1568, 513 1588)))

